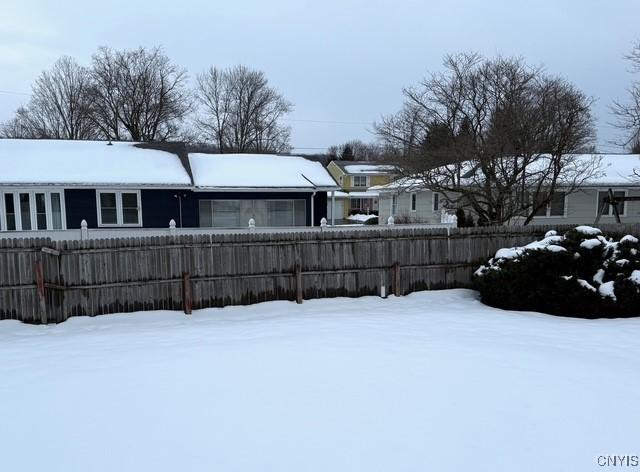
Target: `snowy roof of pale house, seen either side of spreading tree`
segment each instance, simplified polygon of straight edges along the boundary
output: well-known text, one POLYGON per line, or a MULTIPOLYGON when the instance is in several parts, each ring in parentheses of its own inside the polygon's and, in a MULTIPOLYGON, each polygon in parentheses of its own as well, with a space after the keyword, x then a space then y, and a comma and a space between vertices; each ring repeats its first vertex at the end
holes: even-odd
MULTIPOLYGON (((592 159, 599 162, 593 176, 582 183, 583 187, 606 186, 640 186, 640 154, 580 154, 576 156, 577 163, 588 163, 592 159)), ((420 189, 424 182, 419 178, 402 177, 386 185, 369 187, 378 192, 393 192, 398 190, 420 189)))

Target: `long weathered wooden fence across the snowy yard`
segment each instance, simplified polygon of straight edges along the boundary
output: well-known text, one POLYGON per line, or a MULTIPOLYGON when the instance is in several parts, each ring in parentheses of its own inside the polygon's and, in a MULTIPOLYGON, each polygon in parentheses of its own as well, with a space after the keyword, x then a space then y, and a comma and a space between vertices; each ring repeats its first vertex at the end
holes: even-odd
MULTIPOLYGON (((559 227, 566 230, 569 227, 559 227)), ((478 264, 545 226, 0 239, 0 319, 184 310, 467 287, 478 264)), ((603 228, 638 234, 640 225, 603 228)))

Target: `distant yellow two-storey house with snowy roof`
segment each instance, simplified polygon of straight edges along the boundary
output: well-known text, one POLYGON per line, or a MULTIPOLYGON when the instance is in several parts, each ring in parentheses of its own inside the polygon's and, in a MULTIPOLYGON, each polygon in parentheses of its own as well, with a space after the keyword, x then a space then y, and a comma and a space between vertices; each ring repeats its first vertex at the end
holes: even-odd
POLYGON ((327 170, 342 190, 329 201, 328 214, 332 214, 333 203, 336 219, 356 213, 377 213, 378 192, 370 188, 386 185, 396 176, 395 167, 379 162, 331 161, 327 170))

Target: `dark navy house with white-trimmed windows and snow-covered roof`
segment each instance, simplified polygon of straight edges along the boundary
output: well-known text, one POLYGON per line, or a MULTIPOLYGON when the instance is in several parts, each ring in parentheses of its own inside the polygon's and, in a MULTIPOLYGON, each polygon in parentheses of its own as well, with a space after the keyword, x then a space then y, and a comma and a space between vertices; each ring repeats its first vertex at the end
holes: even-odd
POLYGON ((0 233, 314 226, 338 187, 297 156, 189 154, 183 144, 0 139, 0 233))

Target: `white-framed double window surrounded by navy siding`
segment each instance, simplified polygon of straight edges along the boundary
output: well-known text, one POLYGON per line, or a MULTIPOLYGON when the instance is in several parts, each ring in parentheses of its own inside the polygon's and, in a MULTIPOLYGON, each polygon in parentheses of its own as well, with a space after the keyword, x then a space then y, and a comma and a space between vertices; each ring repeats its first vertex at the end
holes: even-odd
POLYGON ((139 191, 97 192, 98 226, 141 226, 139 191))

